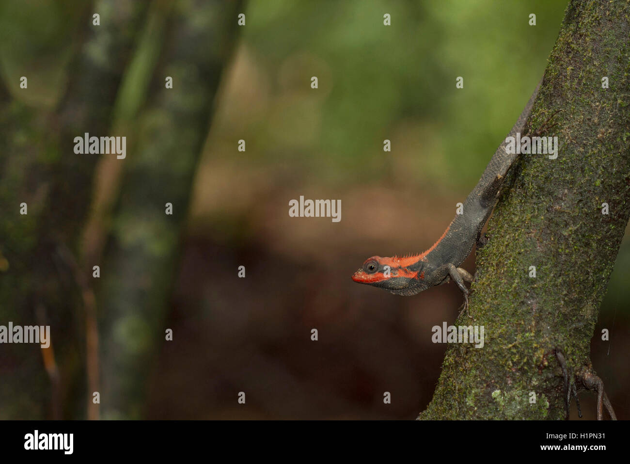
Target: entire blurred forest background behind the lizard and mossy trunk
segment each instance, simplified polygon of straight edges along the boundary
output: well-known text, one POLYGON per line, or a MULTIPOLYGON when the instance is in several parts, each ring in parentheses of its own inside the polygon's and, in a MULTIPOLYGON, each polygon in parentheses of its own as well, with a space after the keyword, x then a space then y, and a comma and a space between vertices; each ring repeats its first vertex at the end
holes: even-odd
MULTIPOLYGON (((565 7, 4 0, 0 324, 47 321, 54 353, 0 345, 0 419, 414 419, 446 349, 431 328, 454 323, 461 295, 394 296, 350 275, 442 234, 541 78, 565 7), (128 136, 127 158, 74 154, 83 132, 128 136), (108 172, 118 182, 98 190, 108 172), (289 217, 300 195, 341 199, 341 222, 289 217)), ((592 340, 620 419, 629 269, 626 236, 592 340)), ((594 395, 580 400, 593 419, 594 395)))

